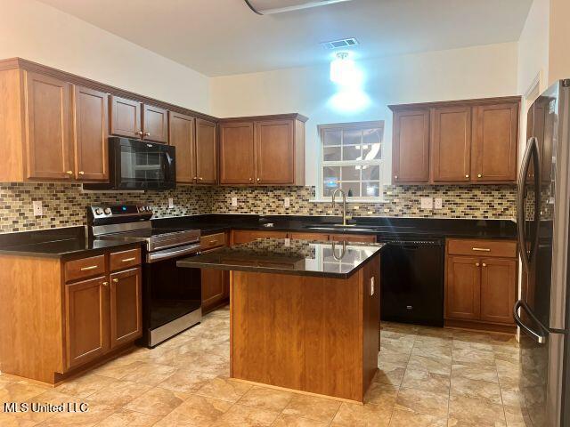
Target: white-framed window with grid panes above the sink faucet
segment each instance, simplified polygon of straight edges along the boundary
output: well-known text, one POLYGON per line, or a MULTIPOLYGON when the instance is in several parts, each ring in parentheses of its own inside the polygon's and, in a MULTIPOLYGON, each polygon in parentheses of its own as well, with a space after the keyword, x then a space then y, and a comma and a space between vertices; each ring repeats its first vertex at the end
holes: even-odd
POLYGON ((346 197, 378 199, 382 194, 384 122, 319 125, 322 157, 319 198, 335 189, 346 197))

